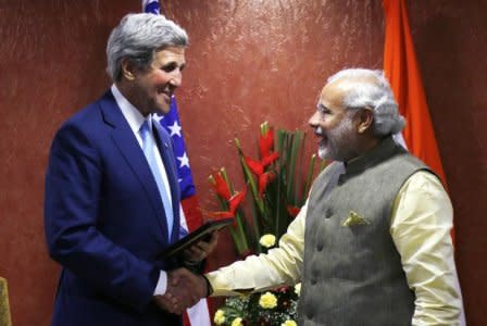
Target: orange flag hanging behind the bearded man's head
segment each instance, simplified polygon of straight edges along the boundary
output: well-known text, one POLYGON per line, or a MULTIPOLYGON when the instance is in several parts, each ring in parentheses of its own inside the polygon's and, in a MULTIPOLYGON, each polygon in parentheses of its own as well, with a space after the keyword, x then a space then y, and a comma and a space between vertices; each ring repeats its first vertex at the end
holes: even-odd
POLYGON ((417 67, 404 0, 383 0, 386 16, 384 72, 405 117, 409 151, 425 162, 446 185, 423 83, 417 67))

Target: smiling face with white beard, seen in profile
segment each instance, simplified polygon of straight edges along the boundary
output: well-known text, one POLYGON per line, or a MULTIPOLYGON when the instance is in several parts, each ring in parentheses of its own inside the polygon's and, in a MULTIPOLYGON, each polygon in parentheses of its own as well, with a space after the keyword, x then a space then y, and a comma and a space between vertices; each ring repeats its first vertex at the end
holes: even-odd
POLYGON ((320 158, 346 162, 358 155, 358 141, 353 113, 342 104, 347 93, 344 86, 338 80, 323 88, 309 124, 319 137, 320 158))

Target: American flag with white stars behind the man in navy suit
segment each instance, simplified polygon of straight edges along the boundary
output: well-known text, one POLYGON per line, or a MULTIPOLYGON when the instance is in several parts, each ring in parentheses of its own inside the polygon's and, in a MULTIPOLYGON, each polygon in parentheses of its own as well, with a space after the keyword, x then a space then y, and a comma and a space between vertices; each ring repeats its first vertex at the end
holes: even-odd
MULTIPOLYGON (((159 1, 142 0, 142 11, 160 14, 161 7, 159 1)), ((165 115, 157 116, 155 118, 159 121, 161 126, 167 130, 173 139, 182 198, 182 225, 187 226, 188 230, 193 230, 202 224, 203 218, 199 209, 198 198, 196 197, 195 184, 192 183, 192 174, 189 166, 188 155, 186 153, 186 146, 175 97, 173 97, 171 101, 170 112, 165 115)), ((211 325, 207 299, 200 300, 196 305, 186 311, 184 323, 185 326, 211 325)))

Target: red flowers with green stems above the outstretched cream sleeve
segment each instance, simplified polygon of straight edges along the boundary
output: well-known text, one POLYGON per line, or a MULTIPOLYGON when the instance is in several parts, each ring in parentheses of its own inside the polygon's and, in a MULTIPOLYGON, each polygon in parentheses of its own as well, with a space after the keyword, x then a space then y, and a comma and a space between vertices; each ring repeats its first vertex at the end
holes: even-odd
POLYGON ((263 252, 260 244, 263 235, 279 238, 310 190, 316 156, 312 154, 304 168, 305 134, 278 129, 276 136, 274 141, 273 128, 266 122, 261 125, 258 159, 244 153, 240 140, 235 139, 245 189, 234 189, 225 168, 209 178, 222 208, 210 215, 235 218, 229 233, 240 256, 263 252), (242 205, 245 199, 247 210, 242 205), (250 218, 246 216, 249 214, 250 218))

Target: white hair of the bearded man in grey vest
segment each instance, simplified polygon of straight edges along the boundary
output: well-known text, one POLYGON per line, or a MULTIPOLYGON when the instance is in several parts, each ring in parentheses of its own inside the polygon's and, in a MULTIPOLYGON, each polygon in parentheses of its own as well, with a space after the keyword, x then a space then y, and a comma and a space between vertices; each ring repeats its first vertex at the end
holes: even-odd
POLYGON ((344 70, 330 76, 327 83, 341 78, 353 83, 342 104, 349 110, 373 109, 376 136, 397 134, 404 128, 404 117, 399 114, 398 103, 383 71, 344 70))

